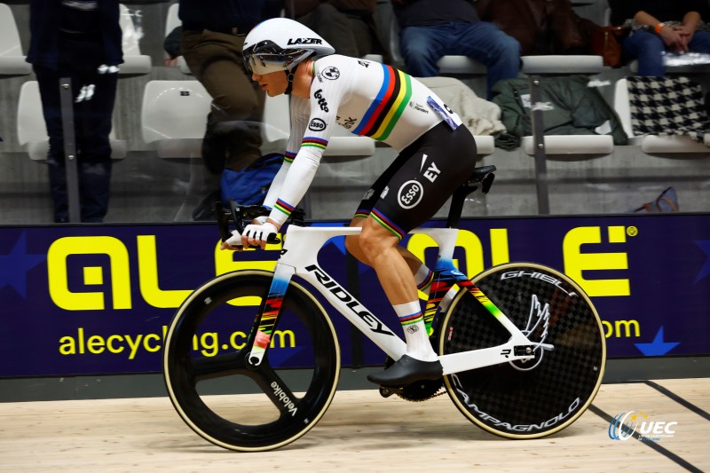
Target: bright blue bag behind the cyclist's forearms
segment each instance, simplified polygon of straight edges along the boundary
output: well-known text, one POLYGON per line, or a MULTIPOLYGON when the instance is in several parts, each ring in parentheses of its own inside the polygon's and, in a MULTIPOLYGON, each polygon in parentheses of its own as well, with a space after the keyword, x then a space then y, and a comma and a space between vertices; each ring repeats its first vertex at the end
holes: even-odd
POLYGON ((273 177, 279 172, 282 163, 282 154, 264 154, 239 171, 224 169, 221 180, 222 201, 225 205, 230 200, 241 205, 264 203, 273 177))

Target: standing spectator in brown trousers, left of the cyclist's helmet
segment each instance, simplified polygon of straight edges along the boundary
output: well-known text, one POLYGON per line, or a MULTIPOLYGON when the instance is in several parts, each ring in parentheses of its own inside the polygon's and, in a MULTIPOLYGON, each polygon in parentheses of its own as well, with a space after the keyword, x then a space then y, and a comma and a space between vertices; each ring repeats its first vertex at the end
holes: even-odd
POLYGON ((193 210, 195 220, 213 217, 225 167, 240 170, 261 156, 260 130, 243 121, 261 121, 264 92, 244 68, 241 48, 251 28, 280 16, 282 8, 282 0, 180 0, 180 52, 212 97, 202 140, 202 159, 211 178, 208 195, 193 210))

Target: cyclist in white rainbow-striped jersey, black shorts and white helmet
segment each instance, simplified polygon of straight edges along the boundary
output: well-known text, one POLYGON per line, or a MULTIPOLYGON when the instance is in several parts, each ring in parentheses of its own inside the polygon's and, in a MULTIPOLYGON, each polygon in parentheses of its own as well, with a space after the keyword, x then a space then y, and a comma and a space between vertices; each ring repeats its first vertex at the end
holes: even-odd
POLYGON ((264 205, 269 217, 247 225, 223 248, 264 248, 312 182, 333 127, 375 138, 399 155, 359 204, 346 248, 375 269, 402 324, 406 354, 368 379, 387 387, 438 379, 442 367, 425 329, 417 288, 431 272, 398 245, 454 193, 476 162, 469 130, 432 91, 413 77, 377 62, 335 55, 311 29, 284 18, 266 20, 247 35, 244 61, 252 79, 271 97, 290 94, 291 136, 284 164, 264 205))

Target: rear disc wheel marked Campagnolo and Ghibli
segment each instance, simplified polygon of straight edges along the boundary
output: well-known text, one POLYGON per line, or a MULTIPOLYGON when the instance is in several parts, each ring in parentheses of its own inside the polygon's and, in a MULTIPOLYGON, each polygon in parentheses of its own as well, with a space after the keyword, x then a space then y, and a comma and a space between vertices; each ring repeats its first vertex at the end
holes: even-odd
MULTIPOLYGON (((472 281, 531 342, 554 349, 538 346, 533 360, 445 375, 449 397, 469 421, 505 438, 540 438, 571 425, 604 376, 604 328, 594 304, 564 273, 541 264, 501 264, 472 281)), ((489 348, 510 336, 466 290, 441 327, 439 354, 489 348)))

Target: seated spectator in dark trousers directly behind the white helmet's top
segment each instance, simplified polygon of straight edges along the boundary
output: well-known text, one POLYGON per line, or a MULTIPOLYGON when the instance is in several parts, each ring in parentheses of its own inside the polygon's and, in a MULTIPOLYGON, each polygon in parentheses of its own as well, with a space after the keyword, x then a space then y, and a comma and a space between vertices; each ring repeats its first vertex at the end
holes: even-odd
POLYGON ((286 16, 318 33, 336 54, 381 54, 390 63, 375 25, 377 0, 286 0, 286 16))

